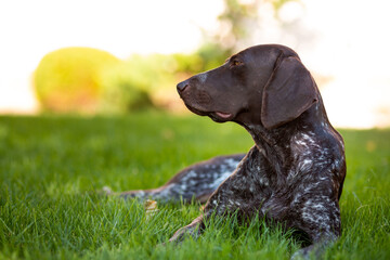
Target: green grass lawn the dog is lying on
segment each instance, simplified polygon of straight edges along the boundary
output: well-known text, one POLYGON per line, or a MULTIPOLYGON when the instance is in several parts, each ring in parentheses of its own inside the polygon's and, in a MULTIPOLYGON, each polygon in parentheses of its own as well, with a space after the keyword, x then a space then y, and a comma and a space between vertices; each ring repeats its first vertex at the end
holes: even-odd
MULTIPOLYGON (((348 176, 342 236, 325 259, 390 259, 390 130, 342 130, 348 176)), ((181 168, 246 152, 234 123, 147 113, 129 117, 0 117, 0 259, 289 259, 289 232, 213 218, 197 240, 158 246, 199 205, 143 205, 99 196, 164 184, 181 168), (229 142, 226 142, 229 140, 229 142)))

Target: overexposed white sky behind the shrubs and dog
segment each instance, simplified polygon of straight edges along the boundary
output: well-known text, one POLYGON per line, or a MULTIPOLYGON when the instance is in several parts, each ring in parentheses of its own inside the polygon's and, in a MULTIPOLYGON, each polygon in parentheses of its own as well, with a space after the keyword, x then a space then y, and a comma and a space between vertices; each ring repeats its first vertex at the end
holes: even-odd
MULTIPOLYGON (((281 17, 297 27, 287 29, 276 26, 270 5, 262 6, 252 42, 287 44, 311 72, 332 77, 321 87, 334 125, 390 126, 389 1, 289 3, 281 17)), ((36 109, 30 77, 50 51, 83 46, 121 58, 190 52, 200 43, 199 28, 217 29, 222 10, 222 0, 1 1, 0 113, 36 109)))

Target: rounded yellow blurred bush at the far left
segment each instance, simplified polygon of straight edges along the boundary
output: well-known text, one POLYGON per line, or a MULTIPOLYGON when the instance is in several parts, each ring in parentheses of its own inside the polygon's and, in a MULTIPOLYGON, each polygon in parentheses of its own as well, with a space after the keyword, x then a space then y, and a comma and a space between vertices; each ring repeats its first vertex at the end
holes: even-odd
POLYGON ((100 75, 120 61, 91 48, 64 48, 39 63, 34 84, 43 110, 93 113, 99 106, 100 75))

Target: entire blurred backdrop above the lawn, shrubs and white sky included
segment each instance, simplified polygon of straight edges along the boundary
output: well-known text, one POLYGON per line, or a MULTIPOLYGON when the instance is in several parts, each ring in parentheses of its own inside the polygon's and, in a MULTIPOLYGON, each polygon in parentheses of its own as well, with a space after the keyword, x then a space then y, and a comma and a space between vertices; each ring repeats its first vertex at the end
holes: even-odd
POLYGON ((386 0, 0 2, 0 114, 185 113, 176 84, 253 44, 295 49, 339 128, 390 126, 386 0))

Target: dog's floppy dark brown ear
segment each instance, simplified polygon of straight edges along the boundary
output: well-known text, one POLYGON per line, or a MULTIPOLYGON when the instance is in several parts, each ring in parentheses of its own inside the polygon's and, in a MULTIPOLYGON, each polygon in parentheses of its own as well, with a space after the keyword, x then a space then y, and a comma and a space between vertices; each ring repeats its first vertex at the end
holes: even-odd
POLYGON ((315 83, 298 57, 278 57, 262 94, 261 122, 276 128, 299 117, 317 102, 315 83))

